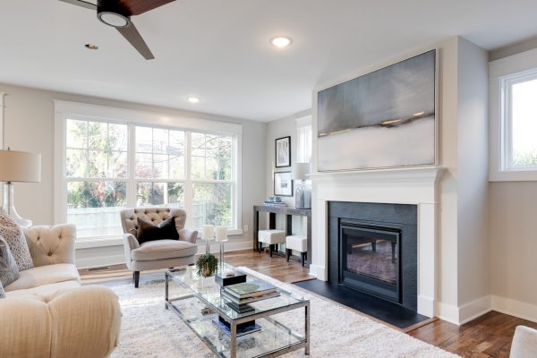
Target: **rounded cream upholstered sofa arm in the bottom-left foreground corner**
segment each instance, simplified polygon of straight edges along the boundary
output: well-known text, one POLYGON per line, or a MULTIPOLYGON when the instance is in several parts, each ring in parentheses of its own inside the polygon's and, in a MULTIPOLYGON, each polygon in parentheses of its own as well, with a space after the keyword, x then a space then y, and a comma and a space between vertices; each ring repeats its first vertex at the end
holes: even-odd
POLYGON ((105 286, 0 300, 0 357, 104 358, 118 344, 121 310, 105 286))

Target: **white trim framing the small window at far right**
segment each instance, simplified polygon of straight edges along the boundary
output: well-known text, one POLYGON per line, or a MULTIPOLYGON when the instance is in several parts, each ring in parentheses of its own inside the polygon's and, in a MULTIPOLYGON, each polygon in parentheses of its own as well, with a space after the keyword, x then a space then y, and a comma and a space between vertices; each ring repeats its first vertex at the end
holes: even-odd
POLYGON ((492 61, 489 64, 489 113, 490 113, 490 158, 489 158, 489 181, 490 182, 528 182, 537 181, 537 170, 506 169, 504 164, 506 125, 503 123, 504 94, 502 93, 503 82, 508 77, 517 73, 531 73, 537 68, 537 49, 511 55, 492 61))

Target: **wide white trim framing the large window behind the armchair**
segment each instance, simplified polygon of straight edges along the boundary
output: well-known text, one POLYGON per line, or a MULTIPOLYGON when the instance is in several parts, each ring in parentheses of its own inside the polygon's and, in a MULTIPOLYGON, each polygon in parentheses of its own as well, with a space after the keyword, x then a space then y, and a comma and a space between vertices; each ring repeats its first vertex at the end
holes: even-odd
MULTIPOLYGON (((1 93, 0 93, 1 95, 1 93)), ((0 96, 2 98, 2 96, 0 96)), ((54 175, 54 222, 55 224, 64 223, 67 218, 65 202, 66 191, 64 180, 65 178, 65 120, 67 117, 83 117, 85 119, 94 119, 98 121, 124 122, 126 124, 149 124, 151 126, 163 126, 167 128, 177 128, 187 131, 200 132, 218 132, 221 134, 234 135, 236 138, 235 145, 237 146, 235 153, 235 180, 234 184, 234 227, 236 229, 229 230, 229 235, 243 234, 243 212, 242 212, 242 142, 243 142, 243 125, 230 124, 226 122, 211 121, 207 119, 198 119, 192 117, 183 117, 177 115, 163 115, 157 113, 149 113, 132 109, 106 107, 98 105, 90 105, 86 103, 70 102, 54 99, 55 106, 55 175, 54 175)), ((132 138, 130 138, 132 140, 132 138)), ((187 144, 187 143, 186 143, 187 144)), ((131 163, 130 163, 131 164, 131 163)), ((185 170, 188 169, 188 163, 185 170)), ((129 203, 127 204, 129 205, 129 203)), ((188 217, 188 211, 187 211, 188 217)), ((83 238, 77 239, 77 249, 113 246, 123 243, 121 235, 107 236, 104 238, 83 238)))

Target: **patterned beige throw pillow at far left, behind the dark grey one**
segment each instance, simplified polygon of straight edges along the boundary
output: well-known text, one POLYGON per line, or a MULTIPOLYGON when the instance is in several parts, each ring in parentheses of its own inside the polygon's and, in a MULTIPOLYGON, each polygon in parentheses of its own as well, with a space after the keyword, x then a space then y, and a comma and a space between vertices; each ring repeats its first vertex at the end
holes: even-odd
POLYGON ((33 268, 30 249, 24 234, 22 234, 21 226, 18 226, 4 209, 0 209, 0 235, 4 237, 5 242, 9 245, 19 270, 33 268))

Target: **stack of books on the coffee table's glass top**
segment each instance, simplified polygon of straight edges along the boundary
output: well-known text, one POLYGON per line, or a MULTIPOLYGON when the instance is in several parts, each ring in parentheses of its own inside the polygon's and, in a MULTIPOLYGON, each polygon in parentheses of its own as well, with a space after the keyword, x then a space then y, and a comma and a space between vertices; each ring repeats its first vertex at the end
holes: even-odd
POLYGON ((224 286, 222 295, 229 300, 227 305, 233 308, 234 311, 246 313, 254 311, 253 307, 248 303, 277 297, 279 293, 276 286, 270 285, 263 280, 255 279, 249 282, 224 286))

